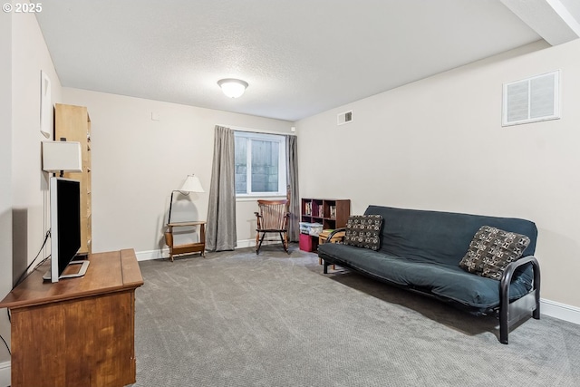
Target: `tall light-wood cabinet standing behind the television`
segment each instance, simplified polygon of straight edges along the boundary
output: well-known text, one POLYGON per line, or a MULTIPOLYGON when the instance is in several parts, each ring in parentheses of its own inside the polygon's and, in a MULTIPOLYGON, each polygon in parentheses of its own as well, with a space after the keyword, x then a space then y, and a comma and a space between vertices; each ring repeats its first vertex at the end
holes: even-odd
POLYGON ((81 182, 81 248, 79 255, 92 252, 91 119, 84 106, 54 105, 54 140, 78 141, 82 150, 82 172, 63 177, 81 182))

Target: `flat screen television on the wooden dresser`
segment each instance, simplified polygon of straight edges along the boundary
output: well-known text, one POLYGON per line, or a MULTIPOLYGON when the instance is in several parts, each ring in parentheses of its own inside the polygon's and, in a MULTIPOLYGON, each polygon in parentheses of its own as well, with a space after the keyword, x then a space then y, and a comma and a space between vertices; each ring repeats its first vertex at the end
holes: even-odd
POLYGON ((51 268, 45 280, 84 276, 89 261, 75 261, 81 248, 81 182, 50 178, 51 268), (77 272, 63 274, 69 265, 81 265, 77 272))

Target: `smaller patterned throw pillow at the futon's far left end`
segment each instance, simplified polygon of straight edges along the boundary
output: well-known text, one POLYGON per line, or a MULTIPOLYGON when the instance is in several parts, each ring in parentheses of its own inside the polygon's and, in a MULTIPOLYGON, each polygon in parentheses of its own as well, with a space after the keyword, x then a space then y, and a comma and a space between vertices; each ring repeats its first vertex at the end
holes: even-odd
POLYGON ((378 250, 381 247, 381 215, 353 215, 346 222, 344 245, 378 250))

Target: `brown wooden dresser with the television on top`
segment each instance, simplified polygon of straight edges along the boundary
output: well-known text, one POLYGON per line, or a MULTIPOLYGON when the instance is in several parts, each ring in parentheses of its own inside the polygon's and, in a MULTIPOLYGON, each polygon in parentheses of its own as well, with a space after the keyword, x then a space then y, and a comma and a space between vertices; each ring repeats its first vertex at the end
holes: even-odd
POLYGON ((44 265, 0 303, 12 314, 12 386, 125 386, 135 382, 132 249, 90 254, 85 276, 43 282, 44 265))

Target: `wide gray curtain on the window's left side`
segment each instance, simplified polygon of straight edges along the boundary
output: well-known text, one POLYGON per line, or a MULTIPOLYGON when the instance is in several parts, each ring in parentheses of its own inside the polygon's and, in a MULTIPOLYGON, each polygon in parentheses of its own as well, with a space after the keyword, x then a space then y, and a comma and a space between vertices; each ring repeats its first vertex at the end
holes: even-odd
POLYGON ((216 126, 206 232, 208 251, 233 250, 237 245, 234 141, 234 131, 216 126))

